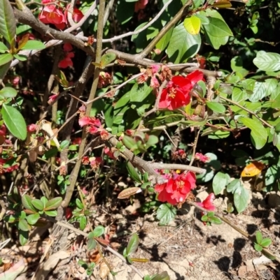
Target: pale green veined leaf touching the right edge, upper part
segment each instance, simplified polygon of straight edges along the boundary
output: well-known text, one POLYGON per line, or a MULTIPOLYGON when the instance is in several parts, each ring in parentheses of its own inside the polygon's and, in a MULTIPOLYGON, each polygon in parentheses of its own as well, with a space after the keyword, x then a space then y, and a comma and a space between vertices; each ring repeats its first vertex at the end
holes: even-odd
POLYGON ((280 54, 260 51, 257 53, 257 57, 253 59, 253 64, 262 71, 279 71, 280 54))

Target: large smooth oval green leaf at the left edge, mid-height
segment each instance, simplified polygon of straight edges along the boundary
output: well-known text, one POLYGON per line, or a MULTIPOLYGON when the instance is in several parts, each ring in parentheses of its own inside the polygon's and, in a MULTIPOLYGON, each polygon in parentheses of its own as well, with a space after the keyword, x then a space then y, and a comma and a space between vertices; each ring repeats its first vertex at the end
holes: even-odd
POLYGON ((25 140, 27 138, 27 125, 22 114, 5 103, 2 105, 1 114, 10 133, 20 140, 25 140))

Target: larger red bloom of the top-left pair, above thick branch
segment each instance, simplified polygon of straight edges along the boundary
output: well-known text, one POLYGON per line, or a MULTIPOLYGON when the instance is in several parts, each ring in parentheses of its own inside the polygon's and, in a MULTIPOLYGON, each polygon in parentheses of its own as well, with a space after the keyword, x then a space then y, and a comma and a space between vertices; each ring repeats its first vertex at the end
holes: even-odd
POLYGON ((55 24, 57 29, 64 29, 66 26, 66 19, 62 10, 55 5, 45 6, 39 15, 39 20, 45 24, 55 24))

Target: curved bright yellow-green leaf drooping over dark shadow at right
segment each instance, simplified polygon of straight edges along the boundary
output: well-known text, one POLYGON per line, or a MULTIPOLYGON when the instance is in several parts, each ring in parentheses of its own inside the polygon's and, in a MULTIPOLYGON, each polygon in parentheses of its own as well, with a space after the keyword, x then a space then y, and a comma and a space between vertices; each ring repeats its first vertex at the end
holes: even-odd
POLYGON ((244 126, 251 129, 251 137, 253 138, 253 145, 255 149, 261 149, 267 142, 267 130, 262 123, 256 119, 250 119, 247 117, 239 117, 244 126))

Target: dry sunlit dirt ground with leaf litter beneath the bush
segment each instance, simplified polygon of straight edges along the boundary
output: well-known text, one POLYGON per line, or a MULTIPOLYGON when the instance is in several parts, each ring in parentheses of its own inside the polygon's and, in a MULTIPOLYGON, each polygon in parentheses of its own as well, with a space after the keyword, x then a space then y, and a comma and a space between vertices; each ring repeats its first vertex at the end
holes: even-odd
MULTIPOLYGON (((207 193, 200 194, 201 197, 207 193)), ((270 194, 272 196, 272 194, 270 194)), ((228 214, 228 219, 249 234, 260 230, 264 237, 272 239, 269 249, 279 253, 280 196, 274 199, 253 193, 250 206, 239 215, 228 214)), ((215 201, 218 212, 225 203, 222 198, 215 201)), ((135 201, 123 209, 123 213, 111 215, 111 246, 122 252, 130 233, 138 233, 139 249, 133 258, 146 258, 148 263, 134 263, 143 274, 156 274, 167 271, 171 280, 222 280, 222 279, 280 279, 280 267, 253 249, 251 242, 240 233, 223 223, 220 226, 204 226, 200 212, 190 207, 181 209, 169 226, 158 226, 155 214, 139 216, 135 213, 139 202, 135 201), (113 228, 113 230, 112 230, 113 228)), ((97 213, 96 223, 104 222, 108 213, 97 213)), ((45 229, 48 231, 48 228, 45 229)), ((86 240, 76 233, 61 230, 61 238, 52 240, 43 231, 31 235, 29 243, 22 247, 6 246, 0 257, 6 265, 6 274, 0 279, 113 279, 106 264, 100 263, 98 251, 88 255, 86 240), (42 258, 43 256, 43 258, 42 258), (93 274, 87 277, 78 260, 97 261, 93 274), (39 265, 41 263, 41 265, 39 265), (8 267, 10 264, 10 267, 8 267), (14 272, 13 277, 7 272, 14 272), (22 274, 20 274, 20 273, 22 274), (18 274, 17 274, 18 273, 18 274), (7 278, 7 275, 9 278, 7 278)), ((104 252, 104 256, 116 272, 116 280, 140 280, 129 265, 118 257, 104 252)), ((3 264, 0 266, 3 271, 3 264)), ((0 271, 0 272, 2 272, 0 271)))

